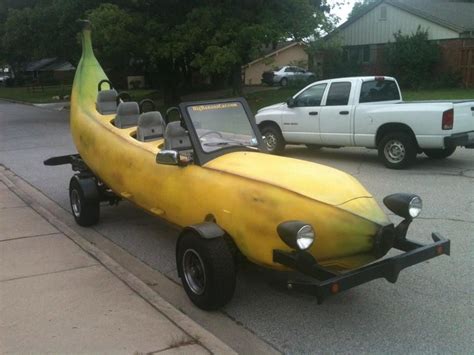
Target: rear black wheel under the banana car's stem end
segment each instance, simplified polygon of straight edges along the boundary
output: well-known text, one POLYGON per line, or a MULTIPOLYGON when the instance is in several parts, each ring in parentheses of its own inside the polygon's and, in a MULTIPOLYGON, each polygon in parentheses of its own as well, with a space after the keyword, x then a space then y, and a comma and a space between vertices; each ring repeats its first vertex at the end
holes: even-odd
POLYGON ((99 198, 87 198, 79 183, 79 178, 76 176, 73 176, 69 182, 69 202, 71 204, 72 215, 77 224, 83 227, 89 227, 99 222, 99 198))

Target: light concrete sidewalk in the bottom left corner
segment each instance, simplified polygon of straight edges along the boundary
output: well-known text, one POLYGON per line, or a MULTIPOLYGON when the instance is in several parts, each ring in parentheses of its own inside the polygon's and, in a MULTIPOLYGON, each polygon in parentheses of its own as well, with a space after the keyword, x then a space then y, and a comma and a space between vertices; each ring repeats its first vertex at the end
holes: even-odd
POLYGON ((129 287, 133 275, 63 234, 5 179, 0 166, 0 353, 233 352, 156 293, 129 287))

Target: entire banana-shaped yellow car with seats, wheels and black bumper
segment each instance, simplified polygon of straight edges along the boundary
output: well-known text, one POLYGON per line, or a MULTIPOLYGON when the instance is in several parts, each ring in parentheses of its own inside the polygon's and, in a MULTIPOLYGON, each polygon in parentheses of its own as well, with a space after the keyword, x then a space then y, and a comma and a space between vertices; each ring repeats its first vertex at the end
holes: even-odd
POLYGON ((101 202, 127 199, 182 227, 176 262, 191 301, 216 309, 234 292, 236 259, 314 277, 292 288, 326 297, 375 278, 395 282, 410 265, 449 255, 433 234, 421 245, 406 238, 421 211, 416 195, 384 203, 404 221, 394 227, 352 176, 319 164, 273 156, 244 99, 182 103, 163 119, 140 112, 111 87, 94 57, 89 24, 71 97, 71 133, 78 153, 50 158, 70 163, 76 222, 99 221, 101 202), (381 259, 390 249, 405 253, 381 259))

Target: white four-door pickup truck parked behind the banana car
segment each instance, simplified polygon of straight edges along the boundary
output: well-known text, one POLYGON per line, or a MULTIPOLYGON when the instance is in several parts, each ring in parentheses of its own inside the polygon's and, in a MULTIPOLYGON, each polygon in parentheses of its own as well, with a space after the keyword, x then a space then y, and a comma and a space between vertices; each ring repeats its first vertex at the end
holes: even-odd
POLYGON ((474 99, 403 102, 387 76, 318 81, 255 117, 274 154, 287 143, 377 148, 387 167, 402 169, 418 153, 442 159, 457 146, 474 148, 474 99))

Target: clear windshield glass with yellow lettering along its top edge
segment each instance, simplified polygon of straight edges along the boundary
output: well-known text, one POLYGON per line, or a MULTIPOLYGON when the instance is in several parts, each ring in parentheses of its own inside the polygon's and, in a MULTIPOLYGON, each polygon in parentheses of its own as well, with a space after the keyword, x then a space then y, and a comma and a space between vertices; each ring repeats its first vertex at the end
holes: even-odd
POLYGON ((204 152, 232 146, 257 148, 255 132, 240 102, 193 105, 187 111, 204 152))

